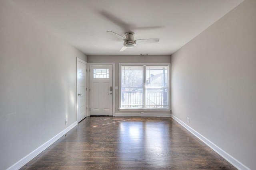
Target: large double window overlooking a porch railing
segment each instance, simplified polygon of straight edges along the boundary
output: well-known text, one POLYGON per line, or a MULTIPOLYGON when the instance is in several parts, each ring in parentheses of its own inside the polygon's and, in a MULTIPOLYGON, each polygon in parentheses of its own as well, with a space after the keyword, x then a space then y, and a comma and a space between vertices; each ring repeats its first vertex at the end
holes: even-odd
POLYGON ((169 64, 120 64, 120 109, 169 109, 169 64))

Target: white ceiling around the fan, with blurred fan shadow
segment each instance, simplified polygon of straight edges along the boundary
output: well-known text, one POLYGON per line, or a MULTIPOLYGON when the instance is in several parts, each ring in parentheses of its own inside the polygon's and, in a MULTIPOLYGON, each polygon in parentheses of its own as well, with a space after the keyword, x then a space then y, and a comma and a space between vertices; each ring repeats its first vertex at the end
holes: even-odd
POLYGON ((10 0, 86 55, 171 55, 243 0, 10 0), (160 38, 119 52, 123 41, 160 38))

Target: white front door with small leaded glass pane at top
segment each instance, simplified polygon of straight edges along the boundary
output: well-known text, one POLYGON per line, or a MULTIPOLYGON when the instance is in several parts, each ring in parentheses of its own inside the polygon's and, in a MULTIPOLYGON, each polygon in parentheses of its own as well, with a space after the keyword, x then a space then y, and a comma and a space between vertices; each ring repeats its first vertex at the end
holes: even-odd
POLYGON ((90 65, 90 115, 113 115, 112 65, 90 65))

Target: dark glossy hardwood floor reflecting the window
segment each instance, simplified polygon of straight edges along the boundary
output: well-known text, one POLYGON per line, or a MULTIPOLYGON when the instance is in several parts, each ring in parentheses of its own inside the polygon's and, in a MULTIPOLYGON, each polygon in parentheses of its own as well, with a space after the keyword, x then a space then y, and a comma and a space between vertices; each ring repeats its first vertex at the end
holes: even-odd
POLYGON ((170 117, 87 117, 21 169, 236 168, 170 117))

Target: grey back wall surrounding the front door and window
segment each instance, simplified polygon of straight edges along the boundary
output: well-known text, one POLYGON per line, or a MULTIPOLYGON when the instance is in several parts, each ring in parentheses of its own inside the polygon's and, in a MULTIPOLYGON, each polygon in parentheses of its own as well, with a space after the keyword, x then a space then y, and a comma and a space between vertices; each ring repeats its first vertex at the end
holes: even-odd
MULTIPOLYGON (((121 53, 121 52, 120 52, 121 53)), ((159 56, 154 56, 154 55, 149 55, 149 56, 88 56, 88 63, 115 63, 115 86, 118 86, 119 84, 119 63, 171 63, 171 57, 170 55, 159 55, 159 56)), ((119 92, 116 90, 116 108, 115 112, 118 114, 140 114, 139 111, 119 111, 119 92)), ((144 115, 147 115, 148 113, 152 112, 147 112, 144 111, 144 115)), ((164 114, 170 114, 170 112, 154 112, 157 113, 158 115, 160 113, 164 114)))

